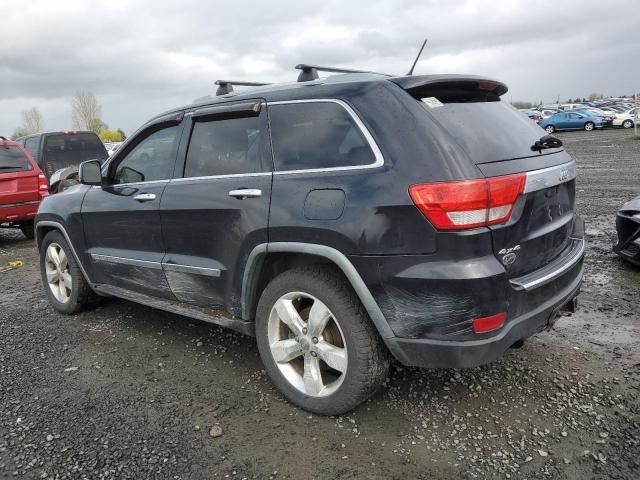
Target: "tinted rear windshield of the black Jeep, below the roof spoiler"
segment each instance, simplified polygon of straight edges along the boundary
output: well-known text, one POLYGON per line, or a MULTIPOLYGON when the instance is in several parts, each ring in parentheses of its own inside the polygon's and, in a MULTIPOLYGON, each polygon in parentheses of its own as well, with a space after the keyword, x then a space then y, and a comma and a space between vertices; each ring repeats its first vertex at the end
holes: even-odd
POLYGON ((452 100, 418 100, 434 123, 449 134, 450 141, 460 145, 476 164, 532 156, 531 145, 546 135, 533 120, 499 99, 457 96, 452 100))

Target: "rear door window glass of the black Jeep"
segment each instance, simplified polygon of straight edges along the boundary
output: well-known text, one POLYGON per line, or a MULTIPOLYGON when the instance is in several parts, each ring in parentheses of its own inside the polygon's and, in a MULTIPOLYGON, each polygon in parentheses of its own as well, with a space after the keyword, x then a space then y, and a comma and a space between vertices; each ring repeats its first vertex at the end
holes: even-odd
POLYGON ((260 117, 195 122, 184 176, 261 172, 261 138, 260 117))

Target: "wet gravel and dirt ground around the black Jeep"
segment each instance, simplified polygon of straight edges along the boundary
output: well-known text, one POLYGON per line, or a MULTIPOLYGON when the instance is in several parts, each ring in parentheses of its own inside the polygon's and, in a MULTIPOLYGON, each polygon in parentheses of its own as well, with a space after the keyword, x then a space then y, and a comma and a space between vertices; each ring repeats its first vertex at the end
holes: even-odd
POLYGON ((342 417, 285 402, 251 338, 118 300, 55 313, 34 243, 0 230, 0 266, 24 261, 0 273, 0 478, 640 478, 640 270, 611 253, 640 141, 559 136, 587 221, 580 311, 490 366, 395 366, 342 417))

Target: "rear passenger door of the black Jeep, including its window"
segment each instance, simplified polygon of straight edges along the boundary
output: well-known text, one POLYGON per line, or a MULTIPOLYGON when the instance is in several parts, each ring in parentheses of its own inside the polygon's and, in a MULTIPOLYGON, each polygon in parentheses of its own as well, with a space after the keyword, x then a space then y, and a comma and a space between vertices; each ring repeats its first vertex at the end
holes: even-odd
POLYGON ((240 313, 244 264, 267 242, 272 159, 260 100, 187 114, 160 215, 163 268, 178 300, 240 313))

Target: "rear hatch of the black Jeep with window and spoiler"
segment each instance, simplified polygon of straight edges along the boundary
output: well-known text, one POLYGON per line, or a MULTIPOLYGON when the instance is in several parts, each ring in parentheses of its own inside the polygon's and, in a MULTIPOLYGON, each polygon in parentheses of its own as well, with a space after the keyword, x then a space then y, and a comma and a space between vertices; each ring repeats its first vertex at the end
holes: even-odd
POLYGON ((536 144, 546 133, 500 100, 504 84, 458 76, 394 81, 421 102, 445 141, 476 165, 479 176, 526 174, 509 219, 487 227, 509 278, 537 270, 570 248, 575 162, 561 145, 536 144))

